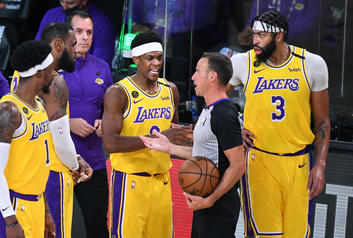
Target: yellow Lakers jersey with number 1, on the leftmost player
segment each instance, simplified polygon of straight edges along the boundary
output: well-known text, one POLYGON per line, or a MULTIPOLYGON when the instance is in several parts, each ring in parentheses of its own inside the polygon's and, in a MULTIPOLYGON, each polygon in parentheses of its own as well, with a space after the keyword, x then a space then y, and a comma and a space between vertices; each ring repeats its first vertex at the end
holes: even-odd
POLYGON ((12 93, 2 97, 2 102, 16 105, 25 128, 11 141, 5 168, 8 188, 21 194, 40 195, 45 191, 49 176, 49 145, 52 142, 46 111, 37 100, 34 109, 12 93))

